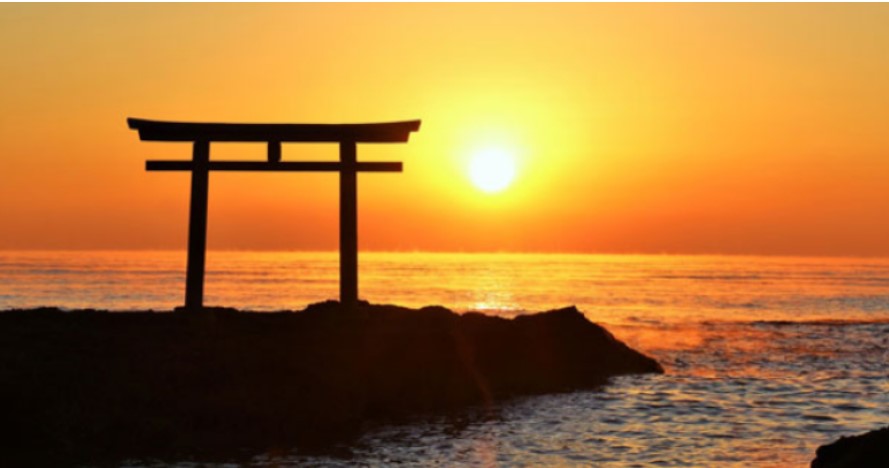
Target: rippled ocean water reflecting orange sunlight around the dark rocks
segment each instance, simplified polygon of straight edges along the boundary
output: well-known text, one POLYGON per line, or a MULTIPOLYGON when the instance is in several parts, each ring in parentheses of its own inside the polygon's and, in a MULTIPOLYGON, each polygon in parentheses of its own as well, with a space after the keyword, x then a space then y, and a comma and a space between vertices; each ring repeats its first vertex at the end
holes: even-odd
MULTIPOLYGON (((369 428, 255 465, 808 466, 889 423, 889 259, 362 253, 360 296, 515 316, 576 305, 666 374, 369 428)), ((0 309, 170 310, 185 253, 0 252, 0 309)), ((206 303, 336 298, 335 252, 216 252, 206 303)), ((134 460, 134 466, 150 465, 134 460)), ((183 465, 188 465, 183 461, 183 465)))

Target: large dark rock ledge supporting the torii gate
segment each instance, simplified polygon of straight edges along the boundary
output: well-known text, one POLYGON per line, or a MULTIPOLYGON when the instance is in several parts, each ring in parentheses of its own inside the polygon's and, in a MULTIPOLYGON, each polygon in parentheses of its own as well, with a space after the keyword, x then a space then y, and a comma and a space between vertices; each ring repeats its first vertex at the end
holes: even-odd
POLYGON ((574 307, 514 319, 337 302, 6 311, 0 465, 240 457, 347 440, 368 421, 661 372, 574 307))

